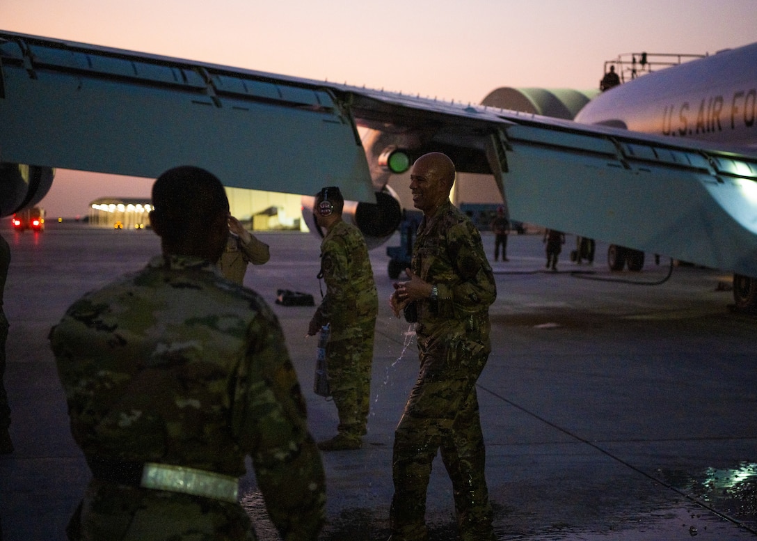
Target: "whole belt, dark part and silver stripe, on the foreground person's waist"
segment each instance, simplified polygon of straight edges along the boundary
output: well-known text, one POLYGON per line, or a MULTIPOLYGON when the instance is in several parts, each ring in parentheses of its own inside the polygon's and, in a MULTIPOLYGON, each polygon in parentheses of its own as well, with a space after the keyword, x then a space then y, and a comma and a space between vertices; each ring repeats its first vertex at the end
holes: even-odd
POLYGON ((236 477, 173 464, 120 461, 110 458, 87 458, 92 475, 110 483, 142 486, 191 494, 222 502, 236 503, 239 483, 236 477))

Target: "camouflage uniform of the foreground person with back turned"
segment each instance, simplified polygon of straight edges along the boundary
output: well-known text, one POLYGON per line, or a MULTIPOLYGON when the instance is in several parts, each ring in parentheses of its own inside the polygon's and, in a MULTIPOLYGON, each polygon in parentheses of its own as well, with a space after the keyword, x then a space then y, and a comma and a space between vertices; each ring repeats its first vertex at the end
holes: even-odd
POLYGON ((256 539, 238 503, 121 479, 148 461, 239 477, 246 455, 282 539, 316 539, 322 463, 281 327, 257 293, 209 261, 157 256, 75 302, 51 347, 94 474, 74 539, 256 539))

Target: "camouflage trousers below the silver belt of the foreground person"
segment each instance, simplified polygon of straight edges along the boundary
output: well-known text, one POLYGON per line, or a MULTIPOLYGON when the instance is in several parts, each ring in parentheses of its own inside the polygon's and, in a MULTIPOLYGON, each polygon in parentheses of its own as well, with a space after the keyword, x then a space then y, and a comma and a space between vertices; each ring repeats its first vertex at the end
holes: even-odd
POLYGON ((67 527, 72 541, 256 541, 241 505, 94 479, 67 527))

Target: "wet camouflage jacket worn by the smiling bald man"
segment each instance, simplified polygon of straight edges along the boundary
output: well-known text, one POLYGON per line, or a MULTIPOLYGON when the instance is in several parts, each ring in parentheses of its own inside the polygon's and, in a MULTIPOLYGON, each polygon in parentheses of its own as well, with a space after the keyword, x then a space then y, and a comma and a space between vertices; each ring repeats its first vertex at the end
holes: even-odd
POLYGON ((488 353, 489 306, 497 298, 494 274, 481 234, 449 200, 433 216, 423 217, 412 271, 438 289, 436 301, 417 302, 419 343, 477 342, 488 353))

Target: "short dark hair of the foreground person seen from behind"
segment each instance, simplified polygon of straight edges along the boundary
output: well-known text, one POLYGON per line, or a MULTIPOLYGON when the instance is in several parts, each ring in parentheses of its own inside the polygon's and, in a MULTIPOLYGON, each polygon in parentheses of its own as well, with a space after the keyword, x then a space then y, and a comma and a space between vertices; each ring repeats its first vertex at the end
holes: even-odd
POLYGON ((192 165, 173 167, 157 177, 152 185, 152 205, 169 241, 180 239, 217 214, 229 212, 223 183, 209 171, 192 165))

